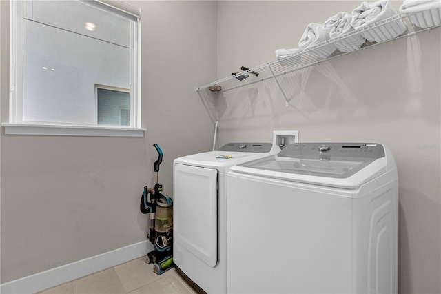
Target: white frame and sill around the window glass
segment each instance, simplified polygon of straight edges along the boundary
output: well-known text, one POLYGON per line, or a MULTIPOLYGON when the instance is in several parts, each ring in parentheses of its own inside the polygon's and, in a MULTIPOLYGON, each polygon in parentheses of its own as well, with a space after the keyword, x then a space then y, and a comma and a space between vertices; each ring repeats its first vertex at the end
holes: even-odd
POLYGON ((122 14, 136 17, 135 36, 130 54, 130 120, 131 126, 82 124, 48 124, 23 121, 23 0, 10 1, 10 100, 9 122, 2 123, 6 135, 74 135, 143 137, 141 128, 141 12, 121 1, 96 1, 122 14), (116 4, 115 4, 116 3, 116 4), (133 97, 133 98, 132 98, 133 97))

